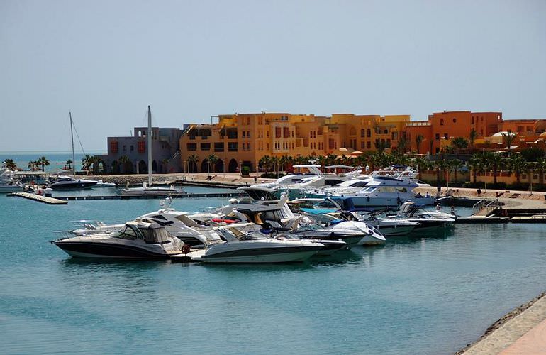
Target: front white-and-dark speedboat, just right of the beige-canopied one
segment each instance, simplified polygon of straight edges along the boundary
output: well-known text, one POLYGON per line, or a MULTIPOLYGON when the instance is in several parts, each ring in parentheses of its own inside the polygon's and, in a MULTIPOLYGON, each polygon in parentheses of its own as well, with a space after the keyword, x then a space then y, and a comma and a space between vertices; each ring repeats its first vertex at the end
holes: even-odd
POLYGON ((208 244, 206 249, 186 256, 203 263, 289 263, 305 261, 323 249, 312 241, 270 238, 253 223, 220 226, 225 242, 208 244))

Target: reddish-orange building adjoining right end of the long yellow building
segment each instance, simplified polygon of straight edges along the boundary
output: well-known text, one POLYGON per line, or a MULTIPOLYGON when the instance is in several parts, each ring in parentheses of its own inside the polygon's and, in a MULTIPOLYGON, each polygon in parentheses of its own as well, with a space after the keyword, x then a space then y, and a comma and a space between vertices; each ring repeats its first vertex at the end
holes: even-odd
POLYGON ((428 121, 412 121, 406 124, 406 138, 411 149, 418 153, 438 154, 446 141, 463 137, 469 139, 472 129, 477 138, 491 136, 498 132, 503 122, 501 112, 443 111, 428 116, 428 121), (423 140, 417 147, 417 136, 423 140))

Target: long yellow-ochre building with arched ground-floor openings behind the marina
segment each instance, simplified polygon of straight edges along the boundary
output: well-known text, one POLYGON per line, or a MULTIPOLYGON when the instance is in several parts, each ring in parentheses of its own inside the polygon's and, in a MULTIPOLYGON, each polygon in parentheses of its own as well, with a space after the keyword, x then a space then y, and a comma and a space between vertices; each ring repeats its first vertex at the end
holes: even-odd
POLYGON ((224 165, 226 172, 243 166, 256 171, 264 155, 338 155, 340 148, 374 150, 379 143, 389 150, 396 146, 409 120, 409 115, 223 114, 218 116, 218 124, 186 125, 180 138, 180 157, 186 172, 219 173, 224 165), (213 166, 210 155, 218 159, 213 166))

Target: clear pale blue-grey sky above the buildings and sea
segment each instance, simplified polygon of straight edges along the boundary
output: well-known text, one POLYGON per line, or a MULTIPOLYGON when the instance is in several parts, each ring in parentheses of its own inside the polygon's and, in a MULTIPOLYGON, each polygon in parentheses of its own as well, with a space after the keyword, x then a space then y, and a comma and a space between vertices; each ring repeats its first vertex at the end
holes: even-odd
POLYGON ((0 151, 235 112, 546 118, 546 1, 0 0, 0 151))

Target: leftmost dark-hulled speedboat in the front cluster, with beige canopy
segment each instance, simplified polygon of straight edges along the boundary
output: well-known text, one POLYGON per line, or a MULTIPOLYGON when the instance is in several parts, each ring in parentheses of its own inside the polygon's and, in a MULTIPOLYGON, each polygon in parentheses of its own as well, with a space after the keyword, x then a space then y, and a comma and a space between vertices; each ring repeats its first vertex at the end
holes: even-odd
POLYGON ((51 241, 74 258, 170 258, 182 253, 182 241, 155 222, 135 219, 112 233, 51 241))

